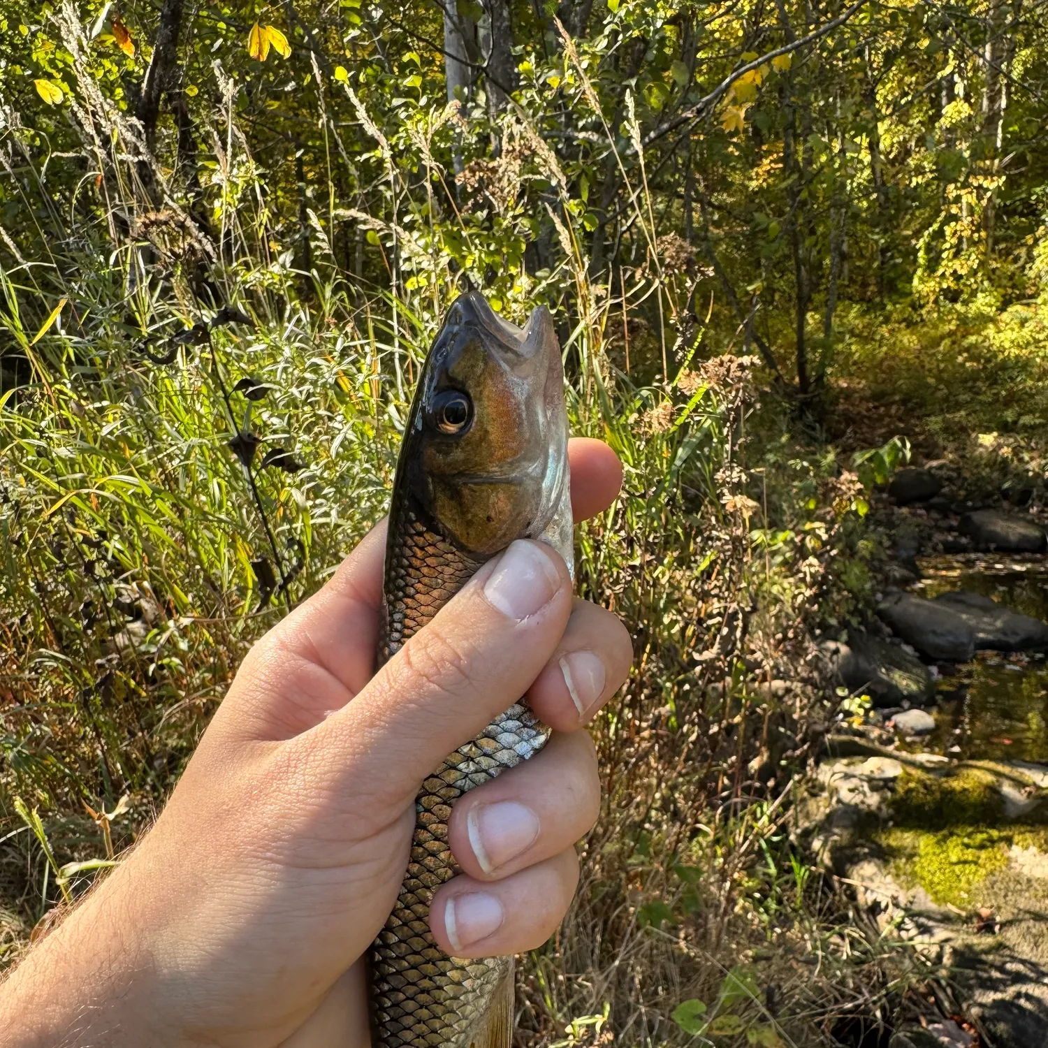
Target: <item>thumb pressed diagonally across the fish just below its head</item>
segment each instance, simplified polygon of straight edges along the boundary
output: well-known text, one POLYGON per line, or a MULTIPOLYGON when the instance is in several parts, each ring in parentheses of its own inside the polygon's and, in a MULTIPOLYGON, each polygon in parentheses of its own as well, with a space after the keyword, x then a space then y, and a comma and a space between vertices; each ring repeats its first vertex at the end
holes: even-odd
POLYGON ((512 543, 304 745, 335 777, 377 777, 414 794, 447 754, 527 691, 571 604, 561 555, 541 542, 512 543))

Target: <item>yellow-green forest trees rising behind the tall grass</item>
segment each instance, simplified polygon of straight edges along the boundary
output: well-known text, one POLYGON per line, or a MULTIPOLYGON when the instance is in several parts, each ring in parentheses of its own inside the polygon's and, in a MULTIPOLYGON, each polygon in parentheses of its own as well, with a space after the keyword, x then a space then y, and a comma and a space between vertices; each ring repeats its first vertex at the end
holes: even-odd
POLYGON ((510 311, 560 302, 572 257, 636 311, 647 268, 660 286, 639 311, 665 370, 677 311, 712 310, 807 392, 844 303, 999 308, 1036 292, 1042 14, 15 2, 0 23, 4 224, 28 234, 31 215, 51 238, 58 221, 64 240, 69 221, 115 212, 114 240, 140 242, 174 223, 188 280, 250 253, 270 271, 395 288, 416 312, 435 304, 432 269, 510 311), (85 141, 93 155, 58 162, 85 141), (18 188, 48 155, 50 215, 18 188), (135 203, 114 209, 129 181, 135 203), (694 271, 689 248, 659 245, 671 235, 694 271))

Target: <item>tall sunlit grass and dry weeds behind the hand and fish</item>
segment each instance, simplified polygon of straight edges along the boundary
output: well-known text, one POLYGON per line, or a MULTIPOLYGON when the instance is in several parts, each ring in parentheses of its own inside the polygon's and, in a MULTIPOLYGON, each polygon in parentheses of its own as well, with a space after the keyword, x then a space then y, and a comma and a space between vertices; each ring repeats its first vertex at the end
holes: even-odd
MULTIPOLYGON (((402 174, 437 173, 430 141, 446 111, 406 111, 394 155, 358 106, 392 210, 340 216, 336 185, 321 187, 331 206, 304 226, 306 271, 232 106, 202 129, 220 187, 212 237, 192 193, 74 71, 74 155, 49 155, 9 111, 2 141, 0 194, 36 223, 0 249, 7 960, 148 827, 243 653, 385 511, 419 364, 462 285, 446 238, 479 236, 461 216, 434 221, 432 179, 402 174), (56 181, 56 165, 84 177, 56 181), (339 263, 336 220, 381 250, 386 284, 339 263)), ((561 262, 507 264, 486 284, 512 320, 553 308, 574 430, 623 459, 623 497, 580 532, 578 586, 630 624, 636 655, 595 727, 604 817, 575 909, 526 965, 521 1035, 687 1040, 670 1016, 701 998, 711 1018, 763 1039, 752 1043, 829 1043, 840 1016, 875 1013, 891 987, 888 947, 849 925, 784 829, 823 708, 813 675, 790 670, 810 653, 817 536, 768 538, 767 484, 747 461, 760 375, 748 359, 711 359, 723 347, 704 344, 693 313, 695 260, 656 237, 646 189, 647 249, 608 286, 526 114, 505 134, 482 174, 511 182, 510 147, 529 145, 553 188, 561 262), (658 329, 637 323, 641 304, 658 329), (785 694, 770 687, 784 673, 785 694)), ((773 517, 798 511, 788 488, 777 500, 788 505, 773 517)))

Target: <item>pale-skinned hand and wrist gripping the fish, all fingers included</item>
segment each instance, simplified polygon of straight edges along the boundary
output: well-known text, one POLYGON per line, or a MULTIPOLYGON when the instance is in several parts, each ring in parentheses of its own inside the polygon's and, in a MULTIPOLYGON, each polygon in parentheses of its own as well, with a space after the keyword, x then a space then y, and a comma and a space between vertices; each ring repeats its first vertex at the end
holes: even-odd
MULTIPOLYGON (((621 471, 572 440, 575 520, 621 471)), ((543 943, 599 805, 585 725, 630 637, 572 596, 560 555, 516 543, 373 673, 385 526, 245 658, 155 826, 0 986, 0 1048, 364 1048, 363 957, 408 861, 415 793, 526 694, 546 748, 467 793, 462 874, 434 899, 457 957, 543 943)))

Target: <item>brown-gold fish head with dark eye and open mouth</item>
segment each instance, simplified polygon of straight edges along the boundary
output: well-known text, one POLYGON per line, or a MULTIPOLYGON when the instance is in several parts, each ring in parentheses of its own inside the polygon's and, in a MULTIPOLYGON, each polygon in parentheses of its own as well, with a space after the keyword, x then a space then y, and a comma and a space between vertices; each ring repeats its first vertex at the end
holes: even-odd
POLYGON ((432 522, 478 556, 541 534, 567 484, 567 441, 549 310, 522 329, 463 294, 425 359, 406 434, 409 483, 432 522))

